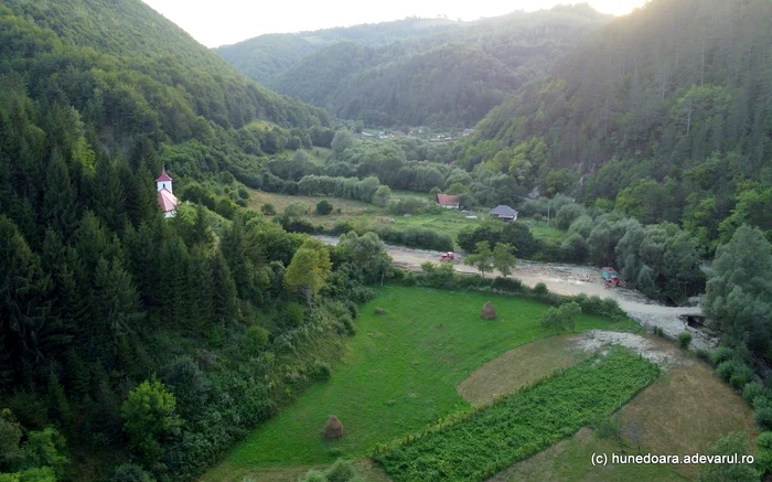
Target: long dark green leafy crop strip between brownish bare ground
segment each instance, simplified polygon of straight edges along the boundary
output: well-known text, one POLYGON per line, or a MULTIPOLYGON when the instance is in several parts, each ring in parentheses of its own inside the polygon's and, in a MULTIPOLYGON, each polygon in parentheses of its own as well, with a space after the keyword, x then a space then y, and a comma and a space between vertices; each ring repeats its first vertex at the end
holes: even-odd
POLYGON ((622 407, 658 367, 621 349, 376 449, 395 481, 482 481, 622 407))

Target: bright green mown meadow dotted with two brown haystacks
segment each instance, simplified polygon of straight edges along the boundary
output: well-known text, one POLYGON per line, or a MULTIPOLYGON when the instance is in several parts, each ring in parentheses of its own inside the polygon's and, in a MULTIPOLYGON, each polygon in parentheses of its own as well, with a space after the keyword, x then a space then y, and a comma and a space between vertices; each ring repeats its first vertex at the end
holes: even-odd
MULTIPOLYGON (((551 336, 539 325, 546 306, 510 297, 387 286, 363 306, 357 334, 333 376, 307 390, 238 444, 203 480, 228 480, 234 471, 331 462, 364 456, 376 443, 420 429, 439 417, 470 408, 457 392, 478 367, 508 350, 551 336), (500 318, 484 321, 491 300, 500 318), (374 314, 375 308, 387 314, 374 314), (330 415, 345 436, 326 442, 330 415)), ((582 315, 577 330, 634 330, 630 321, 582 315)))

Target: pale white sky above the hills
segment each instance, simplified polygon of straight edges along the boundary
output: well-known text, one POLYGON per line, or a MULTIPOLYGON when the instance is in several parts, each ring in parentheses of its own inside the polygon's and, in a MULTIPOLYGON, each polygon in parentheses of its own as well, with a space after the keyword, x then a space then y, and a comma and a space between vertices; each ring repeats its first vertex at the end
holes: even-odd
MULTIPOLYGON (((476 20, 539 10, 570 0, 143 0, 208 47, 265 33, 301 32, 406 17, 476 20)), ((586 0, 582 0, 582 2, 586 0)), ((629 13, 645 0, 589 0, 596 10, 629 13)))

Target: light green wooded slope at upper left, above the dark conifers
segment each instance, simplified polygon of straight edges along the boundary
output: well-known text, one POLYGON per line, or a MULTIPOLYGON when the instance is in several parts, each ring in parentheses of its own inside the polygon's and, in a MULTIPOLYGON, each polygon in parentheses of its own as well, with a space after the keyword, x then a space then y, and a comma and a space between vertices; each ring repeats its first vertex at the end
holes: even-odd
POLYGON ((200 137, 205 121, 328 122, 325 113, 248 81, 139 0, 10 0, 0 9, 4 72, 23 72, 30 93, 58 90, 82 113, 101 103, 120 133, 156 130, 181 141, 200 137))

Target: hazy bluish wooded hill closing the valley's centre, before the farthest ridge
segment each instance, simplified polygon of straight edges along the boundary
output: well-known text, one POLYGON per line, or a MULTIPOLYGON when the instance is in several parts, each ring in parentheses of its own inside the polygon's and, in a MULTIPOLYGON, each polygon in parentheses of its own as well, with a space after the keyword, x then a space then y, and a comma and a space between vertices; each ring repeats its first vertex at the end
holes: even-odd
MULTIPOLYGON (((561 6, 463 22, 387 45, 354 38, 304 56, 266 85, 367 126, 469 127, 542 78, 605 21, 586 4, 561 6)), ((250 72, 244 57, 226 58, 250 72)))

